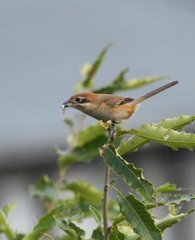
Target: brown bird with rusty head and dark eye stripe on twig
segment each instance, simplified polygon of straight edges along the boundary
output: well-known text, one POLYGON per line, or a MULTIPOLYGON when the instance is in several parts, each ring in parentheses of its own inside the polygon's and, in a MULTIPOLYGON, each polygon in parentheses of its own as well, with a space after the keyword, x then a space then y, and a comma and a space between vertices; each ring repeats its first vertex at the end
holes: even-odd
POLYGON ((109 138, 106 144, 101 147, 101 149, 105 149, 115 139, 115 124, 125 123, 143 101, 178 83, 179 81, 170 82, 135 99, 114 94, 79 93, 70 97, 68 101, 61 105, 61 108, 63 111, 68 107, 75 108, 99 120, 101 125, 109 121, 109 138))

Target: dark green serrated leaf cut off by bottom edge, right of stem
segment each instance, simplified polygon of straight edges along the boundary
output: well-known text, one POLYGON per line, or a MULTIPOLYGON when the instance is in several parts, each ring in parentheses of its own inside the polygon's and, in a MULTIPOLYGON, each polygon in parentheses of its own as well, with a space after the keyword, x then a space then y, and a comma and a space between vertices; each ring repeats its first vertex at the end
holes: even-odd
POLYGON ((121 213, 130 223, 134 232, 141 236, 143 240, 160 240, 162 239, 159 229, 155 226, 154 220, 146 211, 145 205, 135 197, 129 194, 125 197, 118 189, 117 202, 120 206, 121 213))

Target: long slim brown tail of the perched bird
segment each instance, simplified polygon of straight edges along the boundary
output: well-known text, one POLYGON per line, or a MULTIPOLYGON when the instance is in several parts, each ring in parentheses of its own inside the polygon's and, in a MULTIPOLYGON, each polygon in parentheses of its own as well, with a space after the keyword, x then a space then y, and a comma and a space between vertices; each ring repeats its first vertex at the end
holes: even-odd
POLYGON ((166 85, 164 85, 164 86, 162 86, 160 88, 157 88, 156 90, 153 90, 153 91, 151 91, 149 93, 146 93, 145 95, 143 95, 141 97, 135 98, 130 103, 131 103, 131 105, 136 106, 137 104, 142 103, 144 100, 146 100, 146 99, 148 99, 148 98, 150 98, 150 97, 152 97, 152 96, 154 96, 154 95, 156 95, 156 94, 158 94, 158 93, 166 90, 167 88, 170 88, 170 87, 172 87, 172 86, 174 86, 174 85, 176 85, 178 83, 179 83, 179 81, 174 81, 174 82, 168 83, 168 84, 166 84, 166 85))

